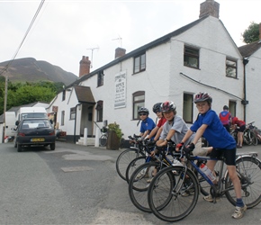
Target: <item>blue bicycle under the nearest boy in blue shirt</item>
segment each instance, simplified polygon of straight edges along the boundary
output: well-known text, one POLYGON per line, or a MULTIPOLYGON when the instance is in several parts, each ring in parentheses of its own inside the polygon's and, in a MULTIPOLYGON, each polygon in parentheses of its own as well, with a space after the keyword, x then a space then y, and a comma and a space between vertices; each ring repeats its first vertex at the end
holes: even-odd
MULTIPOLYGON (((223 157, 193 157, 190 152, 185 152, 184 148, 182 155, 184 155, 184 166, 168 166, 162 169, 148 187, 148 205, 157 218, 174 222, 184 219, 193 211, 198 200, 200 183, 189 165, 210 184, 213 202, 216 202, 216 198, 225 195, 232 205, 236 205, 236 194, 228 171, 223 174, 223 157), (217 185, 202 173, 194 160, 220 161, 217 185), (184 192, 190 194, 183 197, 184 192)), ((261 161, 257 158, 257 153, 238 154, 236 170, 241 184, 242 199, 247 209, 253 208, 261 202, 261 161)))

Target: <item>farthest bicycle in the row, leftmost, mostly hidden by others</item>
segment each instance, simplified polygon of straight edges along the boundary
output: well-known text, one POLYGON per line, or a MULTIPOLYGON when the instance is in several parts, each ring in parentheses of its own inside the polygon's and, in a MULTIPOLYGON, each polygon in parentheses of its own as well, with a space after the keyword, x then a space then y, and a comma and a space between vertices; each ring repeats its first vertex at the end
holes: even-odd
POLYGON ((129 136, 128 138, 133 146, 122 151, 116 160, 116 171, 123 180, 126 180, 126 169, 130 162, 139 156, 146 157, 142 140, 139 140, 140 136, 134 134, 133 137, 129 136))

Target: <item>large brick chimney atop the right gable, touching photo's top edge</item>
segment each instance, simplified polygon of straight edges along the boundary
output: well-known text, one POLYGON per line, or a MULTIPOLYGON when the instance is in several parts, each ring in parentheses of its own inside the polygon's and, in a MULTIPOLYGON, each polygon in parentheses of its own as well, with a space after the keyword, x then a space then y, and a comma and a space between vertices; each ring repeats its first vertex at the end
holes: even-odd
POLYGON ((216 18, 220 18, 220 4, 214 0, 206 0, 201 4, 200 18, 205 15, 211 15, 216 18))

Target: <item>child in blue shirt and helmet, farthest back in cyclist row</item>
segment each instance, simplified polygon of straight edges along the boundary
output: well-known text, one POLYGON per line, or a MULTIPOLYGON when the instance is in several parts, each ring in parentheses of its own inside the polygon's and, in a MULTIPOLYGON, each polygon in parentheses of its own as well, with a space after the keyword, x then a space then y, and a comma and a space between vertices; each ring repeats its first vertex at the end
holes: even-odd
MULTIPOLYGON (((139 129, 139 136, 141 136, 140 139, 145 139, 151 130, 153 130, 156 127, 155 122, 148 117, 148 109, 141 107, 139 108, 139 118, 141 120, 140 129, 139 129)), ((152 139, 154 137, 151 137, 152 139)))

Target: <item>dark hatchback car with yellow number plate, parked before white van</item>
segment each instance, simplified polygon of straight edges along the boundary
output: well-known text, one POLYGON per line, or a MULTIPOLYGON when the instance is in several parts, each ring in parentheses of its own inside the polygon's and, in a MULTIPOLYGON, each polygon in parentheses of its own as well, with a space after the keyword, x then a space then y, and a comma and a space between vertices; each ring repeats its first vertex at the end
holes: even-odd
POLYGON ((22 151, 23 147, 48 146, 51 150, 55 149, 55 130, 48 119, 30 118, 23 119, 18 124, 14 147, 17 151, 22 151))

